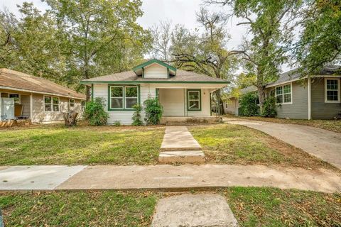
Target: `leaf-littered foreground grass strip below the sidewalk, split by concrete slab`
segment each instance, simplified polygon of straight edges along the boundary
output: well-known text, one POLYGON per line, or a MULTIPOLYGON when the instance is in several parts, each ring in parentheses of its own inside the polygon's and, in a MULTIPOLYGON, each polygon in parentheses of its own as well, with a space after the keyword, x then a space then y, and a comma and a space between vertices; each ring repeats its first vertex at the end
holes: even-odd
MULTIPOLYGON (((341 226, 340 193, 268 187, 215 192, 227 199, 240 226, 341 226)), ((150 226, 158 199, 173 194, 7 192, 0 194, 0 207, 7 226, 150 226)))

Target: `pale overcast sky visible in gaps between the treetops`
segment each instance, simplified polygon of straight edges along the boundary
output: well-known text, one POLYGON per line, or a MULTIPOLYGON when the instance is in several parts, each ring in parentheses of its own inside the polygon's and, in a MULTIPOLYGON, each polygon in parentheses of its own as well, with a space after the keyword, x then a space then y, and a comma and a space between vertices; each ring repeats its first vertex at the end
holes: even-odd
MULTIPOLYGON (((36 8, 40 11, 48 9, 48 5, 40 0, 26 0, 33 2, 36 8)), ((200 7, 203 6, 202 0, 142 0, 142 10, 144 16, 138 19, 138 23, 144 28, 150 28, 154 24, 158 24, 159 21, 171 21, 173 25, 183 24, 186 28, 194 30, 199 26, 196 22, 195 13, 200 11, 200 7)), ((12 13, 20 16, 17 4, 22 4, 23 0, 1 0, 0 7, 4 9, 6 7, 12 13)), ((210 6, 212 11, 229 11, 227 7, 222 6, 210 6)), ((242 37, 247 33, 246 26, 237 26, 240 22, 238 18, 232 18, 227 23, 227 31, 231 35, 227 48, 229 50, 236 50, 242 42, 242 37)), ((282 67, 282 70, 290 70, 286 65, 282 67)))

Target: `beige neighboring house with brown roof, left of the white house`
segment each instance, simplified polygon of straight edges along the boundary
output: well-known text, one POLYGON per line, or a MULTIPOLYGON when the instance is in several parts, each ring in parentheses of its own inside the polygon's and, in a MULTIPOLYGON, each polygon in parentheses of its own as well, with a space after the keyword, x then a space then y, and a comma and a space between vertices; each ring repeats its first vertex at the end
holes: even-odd
POLYGON ((85 108, 85 95, 48 79, 0 69, 0 121, 28 119, 32 123, 63 121, 63 112, 85 108))

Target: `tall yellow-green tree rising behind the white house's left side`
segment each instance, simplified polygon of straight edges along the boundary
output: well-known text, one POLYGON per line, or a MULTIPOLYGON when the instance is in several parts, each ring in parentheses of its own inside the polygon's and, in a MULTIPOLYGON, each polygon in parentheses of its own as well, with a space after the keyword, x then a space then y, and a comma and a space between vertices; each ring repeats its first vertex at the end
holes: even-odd
MULTIPOLYGON (((150 34, 136 19, 140 0, 44 0, 56 18, 67 57, 69 84, 136 65, 150 44, 150 34)), ((80 87, 76 87, 80 89, 80 87)), ((90 87, 87 87, 90 99, 90 87)))

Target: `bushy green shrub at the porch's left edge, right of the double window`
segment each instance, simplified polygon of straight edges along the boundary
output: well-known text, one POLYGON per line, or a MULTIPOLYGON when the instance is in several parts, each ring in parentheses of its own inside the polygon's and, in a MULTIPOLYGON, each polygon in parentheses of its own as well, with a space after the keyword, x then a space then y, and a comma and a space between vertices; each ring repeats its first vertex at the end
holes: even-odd
POLYGON ((158 103, 158 98, 146 99, 144 101, 144 111, 146 112, 144 120, 147 125, 157 125, 160 123, 163 109, 158 103))

